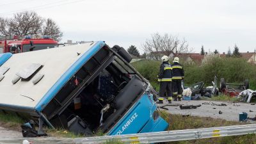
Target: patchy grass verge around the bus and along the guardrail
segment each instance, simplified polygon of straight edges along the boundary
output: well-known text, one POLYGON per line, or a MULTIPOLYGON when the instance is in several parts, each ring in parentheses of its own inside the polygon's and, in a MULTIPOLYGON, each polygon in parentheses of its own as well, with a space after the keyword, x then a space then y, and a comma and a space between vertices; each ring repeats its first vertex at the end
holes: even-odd
MULTIPOLYGON (((168 130, 180 130, 180 129, 199 129, 205 127, 220 127, 220 126, 228 126, 228 125, 239 125, 245 124, 241 122, 230 122, 227 120, 222 120, 220 118, 210 118, 210 117, 199 117, 199 116, 182 116, 182 115, 172 115, 166 113, 166 111, 160 111, 160 115, 169 123, 168 130)), ((13 129, 19 131, 20 124, 23 124, 25 121, 16 115, 5 115, 4 113, 0 113, 0 126, 6 127, 8 129, 13 129)), ((55 137, 65 137, 65 138, 79 138, 84 137, 83 134, 74 134, 73 132, 69 132, 65 129, 45 129, 45 132, 49 134, 49 136, 55 137)), ((95 136, 102 135, 102 132, 97 132, 95 136)), ((110 140, 106 141, 106 144, 122 144, 119 140, 110 140)), ((207 138, 202 140, 189 140, 189 141, 173 141, 169 142, 170 144, 204 144, 204 143, 214 143, 214 144, 242 144, 242 143, 255 143, 256 144, 256 136, 255 134, 247 134, 244 136, 227 136, 221 138, 207 138)))

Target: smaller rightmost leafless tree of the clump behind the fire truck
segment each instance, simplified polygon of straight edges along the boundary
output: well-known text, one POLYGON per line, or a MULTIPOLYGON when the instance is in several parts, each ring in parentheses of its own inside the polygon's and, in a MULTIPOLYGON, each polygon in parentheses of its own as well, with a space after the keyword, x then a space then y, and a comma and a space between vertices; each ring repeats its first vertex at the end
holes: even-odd
POLYGON ((45 20, 45 24, 42 29, 42 35, 51 35, 57 41, 61 40, 63 33, 60 31, 59 26, 52 19, 45 20))

